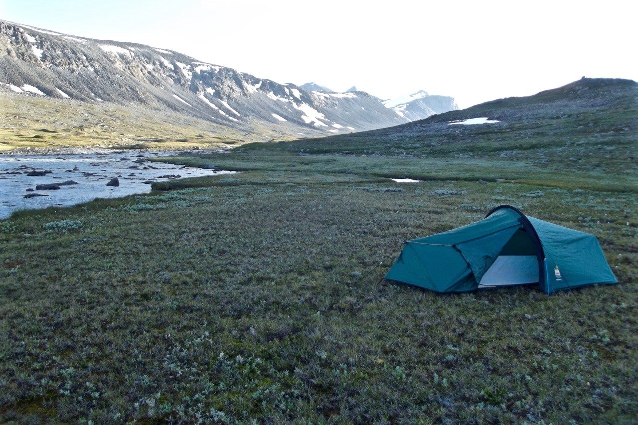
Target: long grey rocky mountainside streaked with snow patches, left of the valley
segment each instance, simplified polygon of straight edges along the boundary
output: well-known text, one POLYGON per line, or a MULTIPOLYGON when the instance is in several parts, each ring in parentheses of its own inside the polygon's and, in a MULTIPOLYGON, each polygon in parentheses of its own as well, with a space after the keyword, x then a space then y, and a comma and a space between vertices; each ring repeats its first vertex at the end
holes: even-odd
POLYGON ((139 106, 247 133, 350 133, 407 121, 364 92, 306 91, 175 51, 3 21, 0 91, 139 106))

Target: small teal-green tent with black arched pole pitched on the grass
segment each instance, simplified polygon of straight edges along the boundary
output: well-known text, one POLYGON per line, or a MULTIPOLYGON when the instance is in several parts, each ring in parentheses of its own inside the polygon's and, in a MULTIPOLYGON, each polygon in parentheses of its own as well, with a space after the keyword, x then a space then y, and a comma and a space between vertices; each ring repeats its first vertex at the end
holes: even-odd
POLYGON ((559 290, 618 283, 594 235, 501 205, 476 223, 406 241, 386 279, 466 292, 537 284, 559 290))

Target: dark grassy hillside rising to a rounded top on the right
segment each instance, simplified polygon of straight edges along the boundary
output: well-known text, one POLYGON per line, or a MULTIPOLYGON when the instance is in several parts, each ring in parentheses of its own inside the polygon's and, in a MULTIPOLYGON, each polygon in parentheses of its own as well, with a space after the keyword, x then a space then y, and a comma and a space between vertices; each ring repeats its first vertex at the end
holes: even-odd
POLYGON ((286 144, 307 153, 533 163, 556 170, 638 174, 638 84, 584 78, 522 98, 489 101, 352 135, 286 144), (450 125, 477 117, 498 123, 450 125))

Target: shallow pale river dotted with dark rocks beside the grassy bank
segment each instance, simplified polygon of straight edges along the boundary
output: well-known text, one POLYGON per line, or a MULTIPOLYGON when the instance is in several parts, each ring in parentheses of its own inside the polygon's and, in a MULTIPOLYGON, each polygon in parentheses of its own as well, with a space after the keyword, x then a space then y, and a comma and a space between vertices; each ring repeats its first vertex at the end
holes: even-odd
POLYGON ((19 209, 68 207, 95 198, 148 193, 151 191, 149 182, 234 173, 147 161, 148 158, 172 154, 176 153, 87 149, 54 155, 0 155, 0 219, 19 209), (33 171, 47 171, 47 174, 27 175, 33 171), (107 186, 114 177, 119 180, 119 186, 107 186), (61 185, 68 181, 75 184, 61 185), (39 184, 58 184, 60 189, 36 190, 39 184), (45 196, 25 198, 25 195, 45 196))

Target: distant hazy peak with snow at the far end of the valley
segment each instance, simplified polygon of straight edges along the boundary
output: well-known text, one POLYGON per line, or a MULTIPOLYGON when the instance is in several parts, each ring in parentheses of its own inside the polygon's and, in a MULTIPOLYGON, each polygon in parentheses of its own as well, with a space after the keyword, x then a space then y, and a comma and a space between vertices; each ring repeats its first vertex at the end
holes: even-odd
POLYGON ((410 121, 417 121, 417 119, 424 119, 435 114, 442 114, 443 112, 457 110, 459 108, 454 98, 450 96, 430 95, 423 90, 409 94, 408 96, 384 100, 383 105, 410 121))

